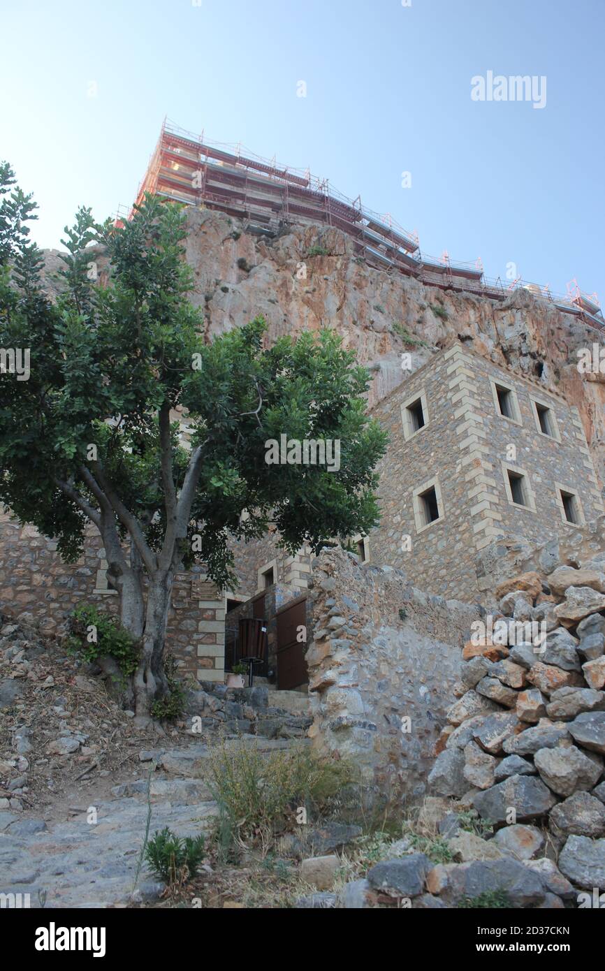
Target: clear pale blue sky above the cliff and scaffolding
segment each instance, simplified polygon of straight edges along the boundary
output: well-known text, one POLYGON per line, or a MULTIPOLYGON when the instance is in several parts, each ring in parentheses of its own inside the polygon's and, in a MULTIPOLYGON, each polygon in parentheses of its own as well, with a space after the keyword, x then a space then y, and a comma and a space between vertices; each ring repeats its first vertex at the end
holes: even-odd
POLYGON ((360 193, 423 252, 605 302, 603 0, 196 3, 1 0, 0 158, 41 246, 131 203, 167 115, 360 193), (487 71, 545 76, 546 107, 473 101, 487 71))

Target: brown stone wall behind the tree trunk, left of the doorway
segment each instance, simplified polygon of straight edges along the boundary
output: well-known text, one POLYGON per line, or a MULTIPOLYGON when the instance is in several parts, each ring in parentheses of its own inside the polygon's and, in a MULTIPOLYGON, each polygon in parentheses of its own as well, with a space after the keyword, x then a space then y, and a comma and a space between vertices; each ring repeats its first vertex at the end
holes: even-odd
MULTIPOLYGON (((35 621, 46 634, 60 634, 80 603, 118 613, 118 593, 109 589, 107 560, 96 530, 86 536, 76 563, 65 564, 56 543, 33 526, 0 516, 0 610, 35 621)), ((166 643, 182 674, 224 680, 224 599, 204 581, 200 568, 175 577, 166 643)))

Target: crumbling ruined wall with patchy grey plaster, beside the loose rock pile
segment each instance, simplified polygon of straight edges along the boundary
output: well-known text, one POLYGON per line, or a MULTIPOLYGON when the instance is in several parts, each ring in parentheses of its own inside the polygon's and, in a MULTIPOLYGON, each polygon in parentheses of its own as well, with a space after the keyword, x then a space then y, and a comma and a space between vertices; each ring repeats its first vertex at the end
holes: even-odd
POLYGON ((370 790, 420 798, 478 609, 342 550, 314 561, 311 598, 314 747, 350 756, 370 790))

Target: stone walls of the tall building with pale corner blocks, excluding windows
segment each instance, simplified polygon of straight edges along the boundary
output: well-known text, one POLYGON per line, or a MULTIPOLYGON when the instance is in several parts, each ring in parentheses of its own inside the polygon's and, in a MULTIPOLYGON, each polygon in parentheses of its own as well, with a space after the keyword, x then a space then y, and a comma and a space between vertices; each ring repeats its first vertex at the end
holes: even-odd
POLYGON ((577 409, 459 343, 409 377, 373 415, 390 445, 378 467, 383 519, 370 534, 370 558, 405 569, 423 589, 478 599, 477 552, 496 536, 511 532, 541 542, 573 533, 576 527, 563 521, 559 485, 578 493, 584 519, 603 512, 577 409), (516 419, 496 412, 493 382, 512 388, 516 419), (420 397, 425 424, 406 436, 402 410, 420 397), (532 400, 550 408, 555 436, 538 430, 532 400), (526 474, 531 508, 511 501, 507 467, 526 474), (440 518, 424 525, 414 494, 429 485, 440 518))

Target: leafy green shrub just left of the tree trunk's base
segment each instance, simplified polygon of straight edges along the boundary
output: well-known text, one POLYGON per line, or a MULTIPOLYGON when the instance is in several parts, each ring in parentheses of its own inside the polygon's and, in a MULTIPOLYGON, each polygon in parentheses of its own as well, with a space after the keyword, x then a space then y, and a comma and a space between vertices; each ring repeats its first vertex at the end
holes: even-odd
POLYGON ((109 655, 118 662, 124 678, 134 674, 139 653, 134 638, 118 619, 103 614, 91 604, 80 604, 68 619, 67 650, 92 664, 109 655))

